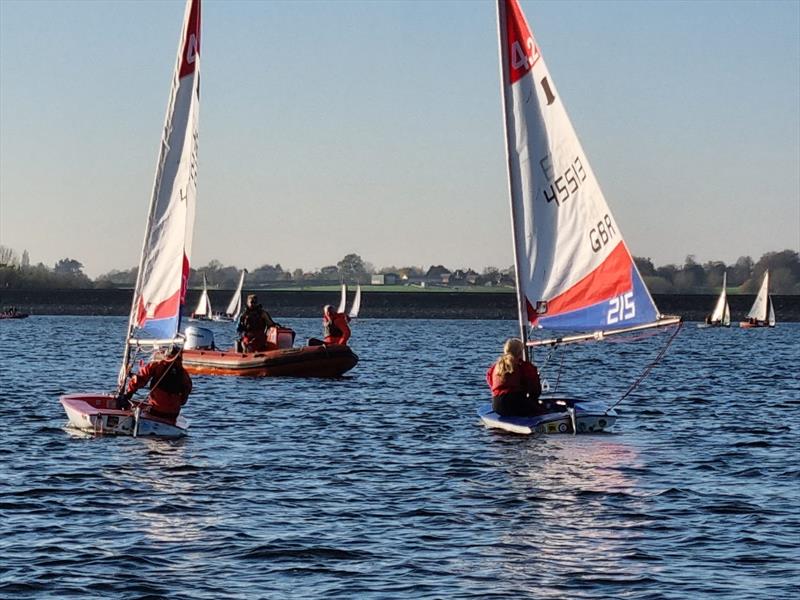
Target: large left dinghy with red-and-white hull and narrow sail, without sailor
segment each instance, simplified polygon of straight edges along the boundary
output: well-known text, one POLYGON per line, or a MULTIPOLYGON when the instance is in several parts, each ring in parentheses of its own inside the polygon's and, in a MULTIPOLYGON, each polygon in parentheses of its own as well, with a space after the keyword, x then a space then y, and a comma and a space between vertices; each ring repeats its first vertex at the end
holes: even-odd
POLYGON ((197 124, 200 108, 200 0, 187 0, 164 133, 145 228, 139 272, 125 336, 116 394, 61 397, 73 428, 95 434, 181 437, 188 424, 149 415, 140 406, 118 409, 143 352, 180 344, 181 306, 189 277, 197 196, 197 124))

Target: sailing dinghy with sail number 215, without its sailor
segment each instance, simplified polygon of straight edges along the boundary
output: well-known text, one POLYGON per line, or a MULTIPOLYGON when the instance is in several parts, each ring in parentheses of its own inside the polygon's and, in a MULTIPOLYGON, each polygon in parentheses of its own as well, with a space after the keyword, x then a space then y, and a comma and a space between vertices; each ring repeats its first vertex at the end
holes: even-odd
MULTIPOLYGON (((658 312, 517 0, 498 0, 497 25, 523 342, 555 347, 679 324, 658 312), (529 341, 528 326, 589 333, 529 341)), ((599 401, 543 396, 539 404, 532 417, 503 417, 491 404, 478 416, 523 434, 599 432, 617 419, 599 401)))

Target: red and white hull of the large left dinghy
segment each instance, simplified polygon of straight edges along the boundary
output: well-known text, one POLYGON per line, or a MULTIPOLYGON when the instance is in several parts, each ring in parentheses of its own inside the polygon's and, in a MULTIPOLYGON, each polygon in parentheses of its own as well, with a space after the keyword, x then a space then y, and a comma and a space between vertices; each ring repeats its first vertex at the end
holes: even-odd
POLYGON ((141 413, 138 427, 133 410, 120 410, 110 394, 67 394, 61 396, 69 426, 95 435, 136 435, 178 438, 186 435, 189 424, 183 417, 175 423, 141 413))

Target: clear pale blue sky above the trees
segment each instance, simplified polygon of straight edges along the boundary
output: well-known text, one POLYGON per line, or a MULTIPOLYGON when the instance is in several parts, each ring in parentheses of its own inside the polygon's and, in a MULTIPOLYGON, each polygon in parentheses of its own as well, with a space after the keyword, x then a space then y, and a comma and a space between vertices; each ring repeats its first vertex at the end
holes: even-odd
MULTIPOLYGON (((800 2, 522 0, 631 252, 800 250, 800 2)), ((138 264, 183 2, 0 0, 0 244, 138 264)), ((192 264, 513 264, 491 1, 203 2, 192 264)))

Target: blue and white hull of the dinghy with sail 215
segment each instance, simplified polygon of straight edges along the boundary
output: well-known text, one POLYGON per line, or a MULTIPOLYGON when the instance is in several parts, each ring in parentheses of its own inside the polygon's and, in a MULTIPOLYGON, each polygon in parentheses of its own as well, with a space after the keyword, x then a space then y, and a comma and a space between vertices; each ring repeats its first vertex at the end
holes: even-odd
POLYGON ((531 417, 501 417, 491 404, 478 409, 478 417, 489 429, 500 429, 522 435, 544 433, 574 433, 568 408, 575 410, 577 433, 602 433, 617 421, 617 412, 602 402, 570 398, 542 398, 542 414, 531 417))

